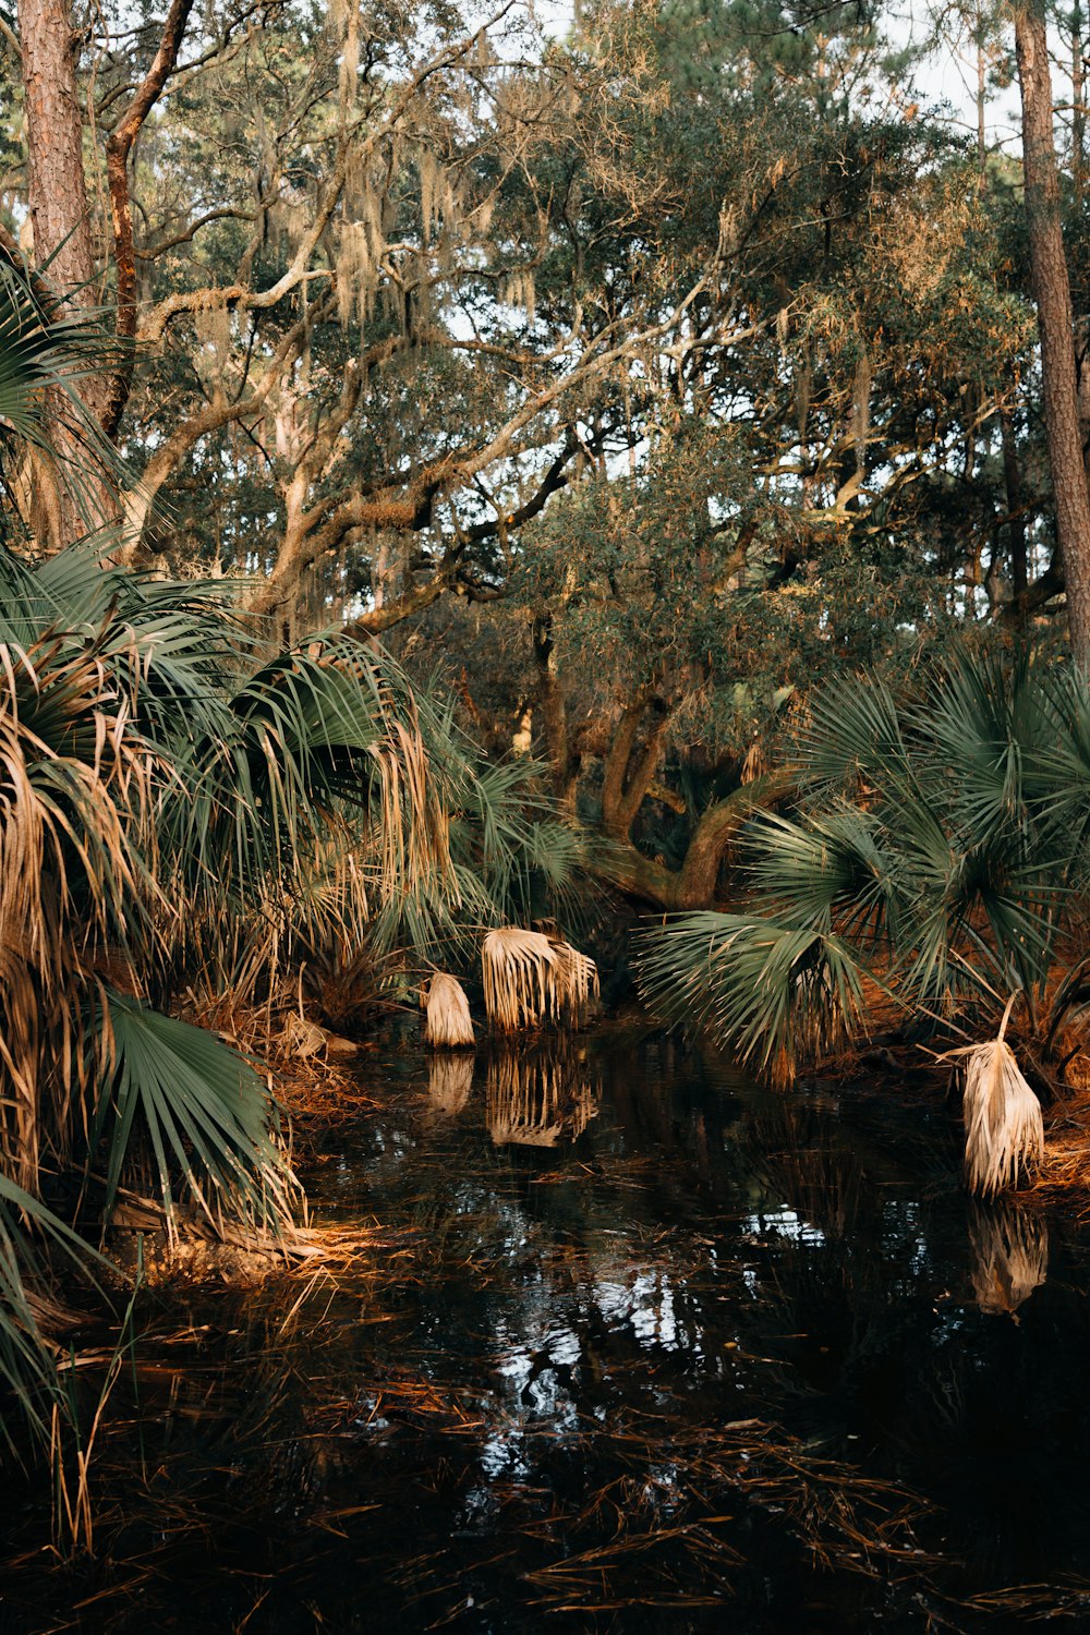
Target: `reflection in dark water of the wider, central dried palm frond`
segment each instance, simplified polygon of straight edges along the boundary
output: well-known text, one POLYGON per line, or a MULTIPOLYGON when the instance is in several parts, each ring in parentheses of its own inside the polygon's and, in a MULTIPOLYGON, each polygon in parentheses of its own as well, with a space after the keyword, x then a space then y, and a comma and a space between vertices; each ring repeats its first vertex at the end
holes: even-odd
POLYGON ((600 1094, 579 1051, 498 1051, 489 1061, 489 1131, 497 1146, 574 1141, 596 1115, 600 1094))

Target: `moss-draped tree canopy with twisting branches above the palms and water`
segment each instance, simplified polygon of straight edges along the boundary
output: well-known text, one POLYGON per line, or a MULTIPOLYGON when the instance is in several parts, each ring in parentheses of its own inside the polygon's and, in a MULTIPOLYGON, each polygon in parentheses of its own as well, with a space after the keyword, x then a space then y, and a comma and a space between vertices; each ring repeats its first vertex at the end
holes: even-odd
POLYGON ((1023 60, 1023 177, 982 8, 925 43, 967 57, 974 139, 879 5, 598 0, 549 34, 515 3, 21 0, 0 244, 57 322, 113 314, 80 412, 123 481, 77 513, 60 423, 5 468, 7 536, 98 520, 278 639, 438 657, 495 747, 528 734, 675 868, 815 675, 1080 584, 1080 23, 1041 28, 1074 113, 1023 60))

